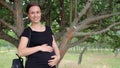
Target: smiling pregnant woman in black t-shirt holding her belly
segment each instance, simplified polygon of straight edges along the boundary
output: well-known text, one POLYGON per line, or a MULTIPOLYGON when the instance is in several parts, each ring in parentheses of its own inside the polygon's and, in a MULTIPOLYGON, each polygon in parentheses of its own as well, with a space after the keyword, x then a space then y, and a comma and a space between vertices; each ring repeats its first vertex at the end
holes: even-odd
POLYGON ((51 28, 40 23, 41 9, 37 3, 30 3, 26 12, 32 24, 20 36, 19 56, 27 56, 25 68, 56 68, 60 53, 51 28), (30 44, 29 35, 31 31, 30 44))

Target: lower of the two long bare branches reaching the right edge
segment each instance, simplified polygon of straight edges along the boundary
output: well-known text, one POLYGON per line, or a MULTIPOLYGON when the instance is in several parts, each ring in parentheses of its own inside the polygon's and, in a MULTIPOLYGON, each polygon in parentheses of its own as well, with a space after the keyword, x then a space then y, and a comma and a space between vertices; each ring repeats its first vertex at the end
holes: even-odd
POLYGON ((118 23, 114 23, 114 24, 111 24, 110 26, 108 26, 106 29, 103 29, 101 31, 97 31, 97 32, 88 32, 88 33, 83 33, 83 32, 75 32, 74 33, 74 36, 85 36, 85 35, 95 35, 95 34, 101 34, 101 33, 104 33, 104 32, 107 32, 109 31, 112 27, 116 26, 116 25, 119 25, 120 22, 118 23))

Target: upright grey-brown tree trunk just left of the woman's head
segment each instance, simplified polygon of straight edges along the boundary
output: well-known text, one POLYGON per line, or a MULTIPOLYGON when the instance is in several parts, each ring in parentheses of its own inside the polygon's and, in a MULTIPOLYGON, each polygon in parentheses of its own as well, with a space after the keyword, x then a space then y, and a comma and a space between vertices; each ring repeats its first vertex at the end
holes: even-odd
POLYGON ((17 34, 18 38, 20 34, 22 33, 24 26, 23 26, 23 12, 22 12, 22 0, 15 0, 15 15, 14 15, 14 22, 16 24, 16 30, 15 33, 17 34))

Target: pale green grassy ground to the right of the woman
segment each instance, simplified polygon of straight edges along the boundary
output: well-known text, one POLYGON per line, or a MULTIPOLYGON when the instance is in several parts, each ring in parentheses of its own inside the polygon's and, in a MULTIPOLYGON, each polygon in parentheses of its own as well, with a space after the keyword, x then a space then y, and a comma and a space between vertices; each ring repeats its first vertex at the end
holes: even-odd
POLYGON ((79 54, 67 53, 60 63, 60 68, 120 68, 120 55, 112 52, 86 52, 82 63, 77 64, 79 54))

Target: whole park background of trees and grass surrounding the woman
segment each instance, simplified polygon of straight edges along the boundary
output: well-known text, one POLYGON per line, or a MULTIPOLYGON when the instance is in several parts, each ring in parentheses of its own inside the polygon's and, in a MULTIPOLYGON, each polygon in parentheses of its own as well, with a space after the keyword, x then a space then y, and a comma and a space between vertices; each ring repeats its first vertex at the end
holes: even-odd
POLYGON ((53 30, 59 68, 120 68, 119 0, 0 0, 0 68, 17 57, 29 2, 41 5, 41 22, 53 30))

